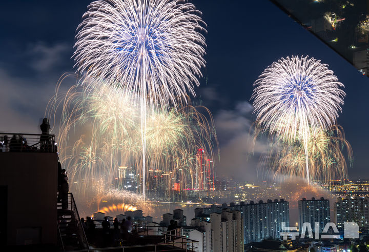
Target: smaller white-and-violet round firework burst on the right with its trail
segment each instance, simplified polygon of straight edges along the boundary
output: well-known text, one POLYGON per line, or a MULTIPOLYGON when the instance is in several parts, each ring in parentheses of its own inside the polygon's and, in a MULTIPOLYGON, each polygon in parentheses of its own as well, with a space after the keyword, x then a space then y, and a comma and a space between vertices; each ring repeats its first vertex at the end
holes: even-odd
POLYGON ((254 83, 253 106, 257 123, 270 134, 304 146, 306 178, 309 181, 308 145, 311 132, 336 123, 345 93, 343 84, 326 64, 292 56, 274 62, 254 83))

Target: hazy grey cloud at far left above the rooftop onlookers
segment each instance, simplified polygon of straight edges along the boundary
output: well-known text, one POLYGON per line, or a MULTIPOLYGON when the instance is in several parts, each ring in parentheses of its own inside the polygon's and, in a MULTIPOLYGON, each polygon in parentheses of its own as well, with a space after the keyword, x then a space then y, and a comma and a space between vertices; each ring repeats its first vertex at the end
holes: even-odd
POLYGON ((0 61, 2 132, 38 133, 39 120, 45 116, 59 76, 68 69, 65 59, 69 60, 69 50, 65 43, 47 46, 38 42, 28 46, 16 57, 19 65, 30 67, 29 74, 13 71, 11 64, 0 61))

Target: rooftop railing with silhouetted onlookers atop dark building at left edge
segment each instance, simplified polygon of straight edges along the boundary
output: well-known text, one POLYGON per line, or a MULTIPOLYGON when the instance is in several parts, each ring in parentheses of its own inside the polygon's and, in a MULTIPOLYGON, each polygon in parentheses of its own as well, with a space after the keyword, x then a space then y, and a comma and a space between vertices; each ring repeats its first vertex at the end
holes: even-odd
POLYGON ((55 135, 0 133, 0 152, 57 152, 55 135))

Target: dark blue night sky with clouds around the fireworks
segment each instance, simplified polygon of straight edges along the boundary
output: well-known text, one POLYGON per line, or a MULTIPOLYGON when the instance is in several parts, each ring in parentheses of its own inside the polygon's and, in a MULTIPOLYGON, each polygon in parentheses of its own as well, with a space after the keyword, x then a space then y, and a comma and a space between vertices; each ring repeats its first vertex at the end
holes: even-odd
MULTIPOLYGON (((255 120, 250 104, 252 85, 280 57, 309 55, 329 64, 345 85, 345 104, 338 123, 353 148, 349 178, 369 178, 367 77, 267 0, 192 2, 208 25, 207 67, 197 98, 192 100, 213 113, 220 144, 219 175, 238 180, 256 178, 258 153, 266 147, 258 143, 254 156, 249 157, 247 140, 255 120)), ((70 57, 75 29, 89 3, 2 3, 0 131, 38 133, 59 77, 74 71, 70 57)))

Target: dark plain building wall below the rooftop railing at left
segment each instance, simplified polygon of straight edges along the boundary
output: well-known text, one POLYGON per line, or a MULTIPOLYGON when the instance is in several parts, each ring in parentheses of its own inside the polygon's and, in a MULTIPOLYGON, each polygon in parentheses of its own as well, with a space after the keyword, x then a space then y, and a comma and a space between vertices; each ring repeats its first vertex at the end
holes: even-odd
POLYGON ((57 244, 57 154, 0 152, 0 163, 7 245, 57 244))

